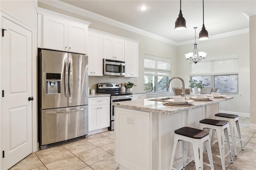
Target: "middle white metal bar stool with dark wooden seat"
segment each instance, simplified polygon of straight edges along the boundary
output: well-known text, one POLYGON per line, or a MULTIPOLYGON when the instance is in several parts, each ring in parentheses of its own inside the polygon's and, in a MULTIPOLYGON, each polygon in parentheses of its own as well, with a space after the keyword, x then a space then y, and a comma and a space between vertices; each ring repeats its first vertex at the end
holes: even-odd
POLYGON ((230 143, 228 138, 228 123, 226 121, 219 121, 215 119, 203 119, 199 122, 200 122, 199 124, 200 129, 202 130, 204 130, 205 128, 213 129, 211 145, 213 142, 214 132, 216 131, 219 150, 220 150, 220 155, 216 155, 216 156, 220 157, 222 169, 225 170, 225 157, 228 154, 230 156, 231 163, 233 163, 232 156, 231 156, 231 148, 230 148, 230 143), (227 154, 225 154, 224 135, 225 135, 226 143, 229 149, 227 154))

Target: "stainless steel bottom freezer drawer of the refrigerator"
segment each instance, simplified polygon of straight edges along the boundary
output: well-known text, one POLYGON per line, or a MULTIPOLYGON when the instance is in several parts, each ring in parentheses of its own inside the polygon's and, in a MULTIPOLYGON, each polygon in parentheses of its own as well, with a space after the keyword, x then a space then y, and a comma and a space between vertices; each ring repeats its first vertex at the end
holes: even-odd
POLYGON ((83 136, 88 134, 88 105, 42 110, 41 120, 40 145, 83 136))

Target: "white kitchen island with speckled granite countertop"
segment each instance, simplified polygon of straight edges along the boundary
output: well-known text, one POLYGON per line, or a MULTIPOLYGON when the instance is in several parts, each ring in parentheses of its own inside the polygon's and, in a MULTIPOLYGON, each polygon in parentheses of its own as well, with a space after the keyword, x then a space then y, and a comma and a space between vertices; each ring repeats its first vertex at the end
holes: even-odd
MULTIPOLYGON (((115 160, 119 169, 168 170, 174 130, 186 126, 199 128, 200 120, 214 119, 219 102, 230 99, 233 97, 194 101, 189 107, 168 106, 149 99, 112 103, 115 106, 115 160)), ((182 155, 180 143, 177 147, 175 159, 182 155)), ((190 156, 193 155, 191 149, 190 156)), ((181 160, 174 165, 182 168, 181 160)))

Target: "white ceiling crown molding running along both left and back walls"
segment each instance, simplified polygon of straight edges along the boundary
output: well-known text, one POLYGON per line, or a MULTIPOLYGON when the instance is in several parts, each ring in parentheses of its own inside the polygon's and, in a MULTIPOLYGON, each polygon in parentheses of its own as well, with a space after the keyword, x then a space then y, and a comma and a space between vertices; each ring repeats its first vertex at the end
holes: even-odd
MULTIPOLYGON (((42 4, 49 5, 49 6, 53 6, 53 7, 56 7, 56 8, 68 11, 68 12, 72 12, 74 14, 85 16, 87 18, 91 18, 93 20, 97 20, 97 21, 100 21, 100 22, 103 22, 103 23, 106 23, 106 24, 109 24, 109 25, 112 25, 112 26, 116 26, 118 28, 122 28, 124 30, 128 30, 130 32, 134 32, 134 33, 137 33, 137 34, 140 34, 140 35, 143 35, 143 36, 147 36, 147 37, 153 38, 155 40, 159 40, 161 42, 166 42, 166 43, 169 43, 169 44, 172 44, 172 45, 179 46, 179 45, 194 43, 194 40, 188 40, 188 41, 185 41, 185 42, 175 42, 175 41, 170 40, 168 38, 158 36, 158 35, 153 34, 151 32, 147 32, 145 30, 130 26, 128 24, 124 24, 122 22, 119 22, 119 21, 113 20, 111 18, 96 14, 94 12, 79 8, 77 6, 73 6, 71 4, 62 2, 60 0, 38 0, 38 2, 40 2, 42 4)), ((244 14, 246 16, 255 15, 256 14, 256 9, 244 11, 244 14)), ((248 33, 248 32, 249 32, 249 28, 246 28, 246 29, 243 29, 243 30, 237 30, 237 31, 233 31, 233 32, 226 32, 226 33, 223 33, 223 34, 217 34, 217 35, 214 35, 214 36, 209 36, 208 40, 224 38, 224 37, 234 36, 234 35, 238 35, 238 34, 244 34, 244 33, 248 33)), ((206 40, 206 41, 208 41, 208 40, 206 40)))

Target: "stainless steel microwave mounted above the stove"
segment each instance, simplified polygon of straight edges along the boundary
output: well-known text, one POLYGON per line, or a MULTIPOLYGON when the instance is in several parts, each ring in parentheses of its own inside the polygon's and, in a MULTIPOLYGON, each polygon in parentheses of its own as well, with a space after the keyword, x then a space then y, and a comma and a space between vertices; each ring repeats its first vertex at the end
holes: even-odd
POLYGON ((111 59, 103 59, 103 66, 105 75, 125 75, 125 62, 111 59))

